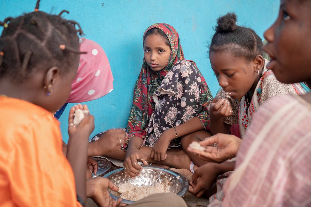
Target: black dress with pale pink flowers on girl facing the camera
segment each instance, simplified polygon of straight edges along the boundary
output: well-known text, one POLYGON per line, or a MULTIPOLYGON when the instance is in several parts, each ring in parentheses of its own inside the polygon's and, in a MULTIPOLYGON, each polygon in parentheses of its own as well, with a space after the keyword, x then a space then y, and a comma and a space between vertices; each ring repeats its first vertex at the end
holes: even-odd
MULTIPOLYGON (((212 96, 194 62, 178 61, 152 97, 155 110, 147 126, 144 145, 153 146, 166 129, 179 126, 196 116, 207 129, 207 105, 212 96), (201 94, 210 98, 206 99, 201 94)), ((180 139, 174 139, 169 148, 180 145, 180 139)))

